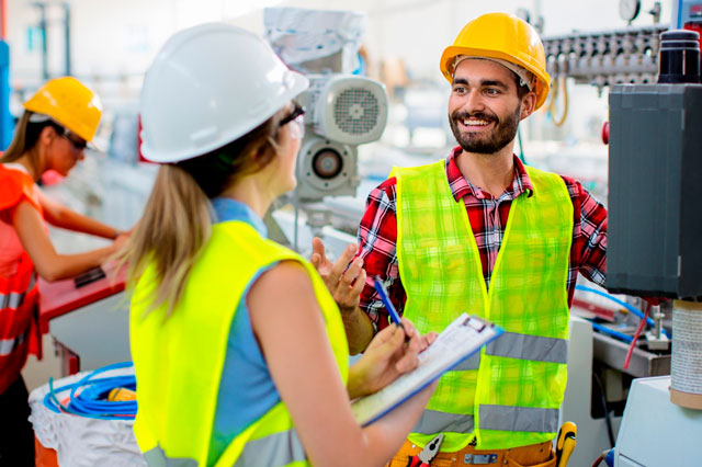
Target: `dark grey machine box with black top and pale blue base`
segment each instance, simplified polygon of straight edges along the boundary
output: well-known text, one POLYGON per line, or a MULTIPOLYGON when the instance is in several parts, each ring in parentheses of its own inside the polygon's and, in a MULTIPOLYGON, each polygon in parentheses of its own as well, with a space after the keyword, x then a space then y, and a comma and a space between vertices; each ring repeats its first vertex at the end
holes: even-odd
POLYGON ((702 176, 700 34, 671 30, 660 37, 658 82, 610 92, 608 288, 677 298, 671 376, 636 381, 615 466, 699 464, 693 438, 680 442, 702 430, 700 412, 690 410, 702 410, 702 205, 694 195, 702 176), (634 189, 634 180, 654 182, 656 190, 634 189), (666 447, 652 449, 644 435, 636 436, 641 430, 657 433, 666 447))

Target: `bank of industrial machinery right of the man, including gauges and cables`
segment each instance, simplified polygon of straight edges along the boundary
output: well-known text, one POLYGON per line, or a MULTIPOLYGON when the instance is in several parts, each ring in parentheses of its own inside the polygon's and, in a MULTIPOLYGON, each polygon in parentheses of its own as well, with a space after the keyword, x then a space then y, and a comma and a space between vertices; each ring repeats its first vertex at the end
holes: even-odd
POLYGON ((634 339, 629 365, 622 340, 632 340, 631 319, 596 320, 595 331, 571 321, 569 363, 580 372, 569 376, 562 414, 580 428, 576 465, 613 447, 618 428, 608 465, 699 464, 691 433, 702 432, 692 409, 702 409, 702 205, 694 194, 702 176, 702 1, 672 3, 671 24, 658 22, 656 4, 654 24, 632 25, 641 1, 622 0, 625 27, 544 39, 554 88, 567 78, 609 88, 608 291, 676 299, 647 307, 623 298, 654 318, 634 339), (584 367, 591 377, 580 375, 584 367))

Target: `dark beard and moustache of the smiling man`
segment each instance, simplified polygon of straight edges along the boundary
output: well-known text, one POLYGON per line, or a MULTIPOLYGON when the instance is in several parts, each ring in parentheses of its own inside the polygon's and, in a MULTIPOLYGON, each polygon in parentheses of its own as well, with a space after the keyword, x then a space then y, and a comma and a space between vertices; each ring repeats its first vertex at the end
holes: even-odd
POLYGON ((451 124, 453 136, 455 136, 456 141, 464 151, 489 155, 499 151, 514 139, 520 115, 521 104, 518 105, 517 110, 508 115, 505 121, 500 121, 497 115, 492 113, 476 112, 469 114, 465 111, 457 111, 454 112, 453 115, 449 115, 449 123, 451 124), (473 132, 462 134, 458 122, 468 119, 469 117, 495 122, 495 128, 489 135, 473 132))

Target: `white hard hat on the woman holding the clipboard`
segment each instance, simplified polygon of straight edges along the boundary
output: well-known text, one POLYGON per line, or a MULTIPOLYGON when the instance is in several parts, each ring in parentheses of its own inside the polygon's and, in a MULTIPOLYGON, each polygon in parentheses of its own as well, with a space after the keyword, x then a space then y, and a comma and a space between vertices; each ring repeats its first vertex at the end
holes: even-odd
POLYGON ((309 86, 259 36, 210 23, 159 50, 141 89, 141 152, 154 162, 205 155, 246 135, 309 86))

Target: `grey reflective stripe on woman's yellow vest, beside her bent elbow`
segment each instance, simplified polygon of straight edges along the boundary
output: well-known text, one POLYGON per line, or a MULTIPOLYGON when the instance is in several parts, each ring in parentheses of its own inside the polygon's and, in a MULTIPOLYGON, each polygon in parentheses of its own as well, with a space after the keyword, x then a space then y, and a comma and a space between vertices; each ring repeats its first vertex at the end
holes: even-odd
POLYGON ((307 458, 295 430, 273 433, 246 443, 235 467, 280 467, 307 458))

